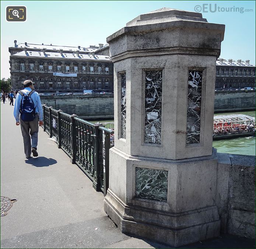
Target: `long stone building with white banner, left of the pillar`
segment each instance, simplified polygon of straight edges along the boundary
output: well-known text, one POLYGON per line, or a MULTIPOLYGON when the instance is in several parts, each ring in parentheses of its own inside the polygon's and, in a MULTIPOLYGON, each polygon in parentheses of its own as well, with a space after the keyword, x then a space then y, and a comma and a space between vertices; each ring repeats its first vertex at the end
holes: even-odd
POLYGON ((108 55, 97 55, 99 46, 90 48, 19 43, 9 47, 11 84, 22 89, 32 80, 38 92, 113 92, 113 63, 108 55), (53 76, 76 73, 77 77, 53 76))

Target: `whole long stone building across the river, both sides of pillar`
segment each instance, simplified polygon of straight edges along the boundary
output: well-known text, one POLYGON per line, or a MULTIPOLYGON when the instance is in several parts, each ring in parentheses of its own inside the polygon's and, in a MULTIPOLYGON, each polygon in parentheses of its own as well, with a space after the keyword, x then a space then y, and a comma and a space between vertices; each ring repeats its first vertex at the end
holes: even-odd
MULTIPOLYGON (((13 90, 32 80, 38 92, 113 92, 113 63, 109 45, 90 48, 19 43, 9 48, 13 90), (77 77, 53 73, 77 73, 77 77)), ((255 87, 255 65, 249 60, 219 58, 216 62, 215 89, 255 87)))

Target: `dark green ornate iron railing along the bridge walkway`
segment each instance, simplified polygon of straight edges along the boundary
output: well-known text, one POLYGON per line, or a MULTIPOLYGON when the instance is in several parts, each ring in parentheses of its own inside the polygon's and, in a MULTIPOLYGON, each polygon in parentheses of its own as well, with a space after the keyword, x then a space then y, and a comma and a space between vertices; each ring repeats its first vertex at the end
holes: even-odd
POLYGON ((93 187, 104 196, 109 183, 109 149, 114 131, 102 124, 92 124, 52 106, 43 105, 43 130, 92 180, 93 187))

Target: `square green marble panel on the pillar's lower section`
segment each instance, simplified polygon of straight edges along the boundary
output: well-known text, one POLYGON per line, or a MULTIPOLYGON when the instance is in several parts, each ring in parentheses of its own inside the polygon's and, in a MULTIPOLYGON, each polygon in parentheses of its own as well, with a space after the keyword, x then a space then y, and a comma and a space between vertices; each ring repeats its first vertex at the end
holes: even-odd
POLYGON ((167 202, 168 171, 136 167, 135 197, 167 202))

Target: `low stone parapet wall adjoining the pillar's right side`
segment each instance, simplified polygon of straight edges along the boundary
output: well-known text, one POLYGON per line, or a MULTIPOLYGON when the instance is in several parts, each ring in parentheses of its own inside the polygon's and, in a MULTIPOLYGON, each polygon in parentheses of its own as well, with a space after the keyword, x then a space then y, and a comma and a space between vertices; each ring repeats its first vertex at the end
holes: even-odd
POLYGON ((218 153, 221 232, 255 239, 255 156, 218 153))

